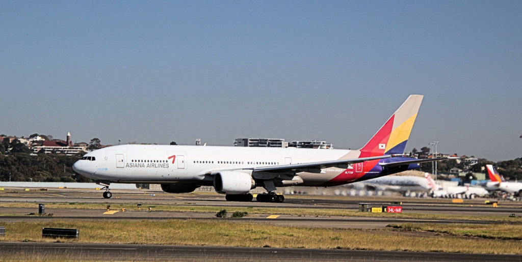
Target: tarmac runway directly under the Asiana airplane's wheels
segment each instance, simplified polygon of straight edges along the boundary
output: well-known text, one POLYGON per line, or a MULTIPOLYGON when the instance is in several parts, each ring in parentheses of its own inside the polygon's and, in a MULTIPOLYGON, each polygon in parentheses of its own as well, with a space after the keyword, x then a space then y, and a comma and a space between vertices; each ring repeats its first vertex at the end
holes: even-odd
POLYGON ((223 195, 207 194, 169 194, 148 191, 112 191, 113 198, 105 199, 99 190, 53 190, 53 191, 16 191, 2 193, 1 202, 28 203, 90 203, 90 204, 153 204, 176 206, 220 206, 220 207, 272 207, 272 208, 325 208, 357 210, 359 203, 390 205, 401 201, 403 213, 481 215, 505 217, 511 214, 522 215, 522 203, 501 202, 499 207, 485 205, 484 199, 465 199, 463 203, 452 203, 451 199, 432 198, 386 198, 386 197, 329 197, 329 196, 292 196, 284 203, 229 202, 223 195))

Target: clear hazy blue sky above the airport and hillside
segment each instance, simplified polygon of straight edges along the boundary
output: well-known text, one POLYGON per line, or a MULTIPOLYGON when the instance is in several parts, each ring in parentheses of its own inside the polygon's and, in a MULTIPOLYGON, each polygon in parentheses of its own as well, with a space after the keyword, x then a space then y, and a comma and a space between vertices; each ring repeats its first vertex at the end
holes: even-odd
POLYGON ((520 1, 1 1, 0 133, 522 156, 520 1))

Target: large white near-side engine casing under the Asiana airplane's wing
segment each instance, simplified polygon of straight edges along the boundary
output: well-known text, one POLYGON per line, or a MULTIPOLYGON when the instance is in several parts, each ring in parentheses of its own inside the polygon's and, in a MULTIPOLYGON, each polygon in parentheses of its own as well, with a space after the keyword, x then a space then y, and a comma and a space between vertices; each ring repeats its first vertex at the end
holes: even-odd
POLYGON ((220 194, 248 194, 255 187, 252 176, 237 171, 221 171, 214 176, 214 189, 220 194))

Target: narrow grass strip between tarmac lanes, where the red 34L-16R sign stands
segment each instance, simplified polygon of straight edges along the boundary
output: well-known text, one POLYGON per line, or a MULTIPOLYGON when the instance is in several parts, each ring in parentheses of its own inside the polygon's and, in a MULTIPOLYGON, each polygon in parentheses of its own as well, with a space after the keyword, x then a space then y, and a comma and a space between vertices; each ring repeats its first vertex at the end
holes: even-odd
MULTIPOLYGON (((386 217, 386 218, 411 218, 411 219, 456 219, 456 220, 481 220, 481 221, 509 221, 522 222, 521 217, 494 217, 494 216, 471 216, 471 215, 452 215, 452 214, 420 214, 420 213, 369 213, 359 212, 355 209, 340 208, 277 208, 277 207, 230 207, 230 206, 193 206, 193 203, 175 203, 170 205, 162 204, 142 204, 141 210, 149 207, 153 211, 175 211, 175 212, 200 212, 200 213, 216 213, 219 210, 227 209, 229 211, 248 212, 248 216, 259 216, 265 214, 278 215, 294 215, 294 216, 349 216, 349 217, 386 217)), ((84 203, 46 203, 45 208, 52 213, 52 208, 79 208, 79 209, 100 209, 103 210, 107 205, 111 209, 117 210, 125 208, 126 210, 136 210, 134 204, 84 204, 84 203)), ((35 203, 0 203, 0 207, 25 207, 35 208, 35 203)), ((5 214, 4 214, 5 215, 5 214)))

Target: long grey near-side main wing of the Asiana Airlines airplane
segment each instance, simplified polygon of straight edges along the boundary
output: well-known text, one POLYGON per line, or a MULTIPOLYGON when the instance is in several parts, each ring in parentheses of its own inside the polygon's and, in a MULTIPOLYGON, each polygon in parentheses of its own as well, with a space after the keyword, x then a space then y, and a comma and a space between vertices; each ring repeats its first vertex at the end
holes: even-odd
POLYGON ((331 160, 331 161, 321 161, 321 162, 313 162, 313 163, 302 163, 302 164, 290 164, 290 165, 280 165, 280 166, 267 166, 267 167, 253 167, 253 168, 244 168, 246 170, 255 171, 265 171, 265 172, 274 172, 274 173, 295 173, 295 172, 311 172, 311 173, 319 173, 322 168, 328 167, 338 167, 338 168, 348 168, 351 164, 361 163, 369 160, 377 160, 390 158, 395 156, 402 155, 383 155, 383 156, 373 156, 373 157, 362 157, 362 158, 353 158, 353 159, 342 159, 342 160, 331 160))

